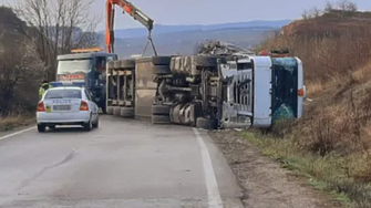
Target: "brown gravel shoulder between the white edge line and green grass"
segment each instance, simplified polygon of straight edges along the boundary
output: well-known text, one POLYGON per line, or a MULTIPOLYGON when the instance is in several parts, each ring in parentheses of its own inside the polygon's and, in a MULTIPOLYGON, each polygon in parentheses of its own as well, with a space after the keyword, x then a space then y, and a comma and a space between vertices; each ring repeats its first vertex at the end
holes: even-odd
POLYGON ((243 190, 245 207, 341 207, 323 193, 315 190, 305 179, 280 167, 241 138, 236 131, 210 132, 209 136, 224 153, 243 190))

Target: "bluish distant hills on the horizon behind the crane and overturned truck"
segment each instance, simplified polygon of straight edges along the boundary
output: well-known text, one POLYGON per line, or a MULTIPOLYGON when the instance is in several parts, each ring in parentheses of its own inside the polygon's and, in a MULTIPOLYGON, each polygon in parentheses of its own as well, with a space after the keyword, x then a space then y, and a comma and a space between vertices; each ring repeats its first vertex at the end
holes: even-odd
MULTIPOLYGON (((153 31, 153 39, 159 54, 193 54, 196 44, 205 40, 220 40, 243 48, 253 48, 267 35, 290 23, 290 20, 249 21, 210 25, 161 25, 153 31)), ((101 32, 102 34, 102 32, 101 32)), ((146 44, 145 28, 115 31, 115 53, 120 58, 142 53, 146 44)), ((101 37, 104 46, 104 35, 101 37)), ((146 55, 153 55, 151 45, 146 55)))

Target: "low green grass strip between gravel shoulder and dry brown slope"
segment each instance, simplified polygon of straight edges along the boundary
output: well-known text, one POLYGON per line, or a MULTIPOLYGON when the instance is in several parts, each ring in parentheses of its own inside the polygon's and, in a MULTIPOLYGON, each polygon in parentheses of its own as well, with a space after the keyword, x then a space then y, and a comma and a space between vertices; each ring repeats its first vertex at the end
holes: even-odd
POLYGON ((282 168, 305 176, 310 185, 330 193, 346 207, 370 207, 370 181, 362 181, 354 177, 362 175, 362 173, 370 173, 371 163, 364 159, 361 154, 347 156, 329 154, 321 157, 303 152, 290 139, 278 139, 257 132, 243 134, 248 142, 258 146, 264 155, 280 162, 282 168))

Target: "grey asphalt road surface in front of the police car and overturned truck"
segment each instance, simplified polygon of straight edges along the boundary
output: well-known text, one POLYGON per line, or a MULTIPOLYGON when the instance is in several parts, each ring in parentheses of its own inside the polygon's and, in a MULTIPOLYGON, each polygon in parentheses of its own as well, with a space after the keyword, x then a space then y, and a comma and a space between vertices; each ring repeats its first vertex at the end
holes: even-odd
POLYGON ((100 124, 0 135, 0 207, 243 207, 205 132, 107 116, 100 124))

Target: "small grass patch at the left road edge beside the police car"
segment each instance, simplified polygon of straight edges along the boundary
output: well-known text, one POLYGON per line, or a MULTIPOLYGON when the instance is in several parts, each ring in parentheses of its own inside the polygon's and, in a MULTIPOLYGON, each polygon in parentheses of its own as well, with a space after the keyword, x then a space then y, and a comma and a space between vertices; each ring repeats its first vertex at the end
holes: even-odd
POLYGON ((11 131, 16 127, 28 126, 35 122, 31 116, 9 116, 0 118, 0 132, 11 131))

